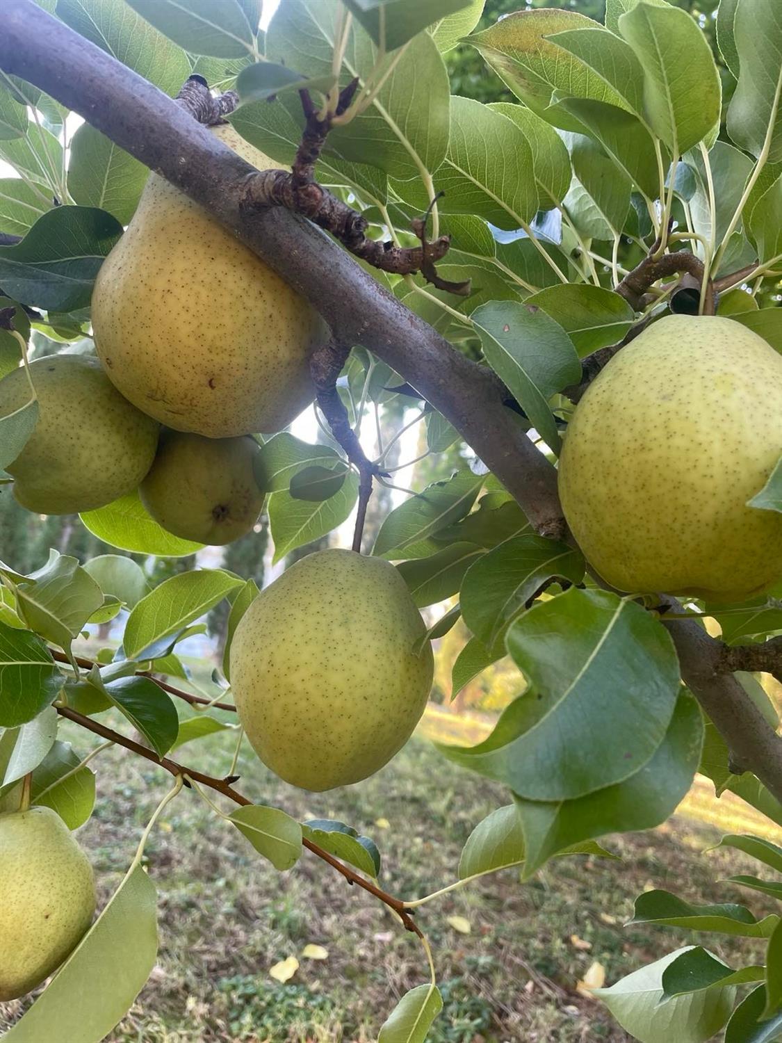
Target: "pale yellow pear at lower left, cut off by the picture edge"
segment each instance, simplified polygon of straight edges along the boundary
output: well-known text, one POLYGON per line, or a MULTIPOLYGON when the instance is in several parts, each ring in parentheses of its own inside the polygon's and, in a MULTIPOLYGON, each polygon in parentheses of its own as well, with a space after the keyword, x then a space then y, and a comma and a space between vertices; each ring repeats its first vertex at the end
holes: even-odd
POLYGON ((49 807, 0 815, 0 1000, 41 985, 95 913, 90 862, 49 807))

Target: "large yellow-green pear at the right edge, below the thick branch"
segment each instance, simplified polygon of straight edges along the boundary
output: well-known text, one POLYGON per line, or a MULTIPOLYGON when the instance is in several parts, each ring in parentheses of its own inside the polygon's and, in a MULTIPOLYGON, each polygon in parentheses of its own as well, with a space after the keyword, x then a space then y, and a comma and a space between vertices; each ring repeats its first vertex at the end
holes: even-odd
POLYGON ((576 409, 565 517, 619 590, 743 601, 782 578, 782 514, 748 507, 782 454, 782 356, 731 319, 669 315, 576 409))

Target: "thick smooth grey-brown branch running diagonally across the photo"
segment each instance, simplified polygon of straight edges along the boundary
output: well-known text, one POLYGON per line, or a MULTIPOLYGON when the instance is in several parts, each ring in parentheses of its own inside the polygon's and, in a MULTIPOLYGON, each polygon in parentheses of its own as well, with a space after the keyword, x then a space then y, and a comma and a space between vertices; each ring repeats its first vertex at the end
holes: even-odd
MULTIPOLYGON (((79 113, 206 208, 320 311, 336 338, 369 348, 419 389, 538 532, 562 531, 556 470, 504 405, 493 374, 456 351, 314 225, 278 209, 248 208, 261 175, 179 105, 32 0, 4 0, 0 67, 79 113)), ((719 644, 697 624, 666 626, 685 682, 742 763, 782 800, 782 739, 738 681, 718 673, 719 644)))

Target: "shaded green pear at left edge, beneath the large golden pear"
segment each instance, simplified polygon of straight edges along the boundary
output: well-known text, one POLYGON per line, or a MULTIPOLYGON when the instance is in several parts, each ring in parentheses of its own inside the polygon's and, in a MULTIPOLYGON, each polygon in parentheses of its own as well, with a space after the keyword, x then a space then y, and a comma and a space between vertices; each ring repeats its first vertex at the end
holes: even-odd
MULTIPOLYGON (((39 420, 6 468, 19 503, 41 514, 76 514, 131 492, 154 459, 157 423, 123 398, 89 356, 35 359, 30 377, 39 420)), ((21 366, 0 381, 0 416, 29 398, 21 366)))

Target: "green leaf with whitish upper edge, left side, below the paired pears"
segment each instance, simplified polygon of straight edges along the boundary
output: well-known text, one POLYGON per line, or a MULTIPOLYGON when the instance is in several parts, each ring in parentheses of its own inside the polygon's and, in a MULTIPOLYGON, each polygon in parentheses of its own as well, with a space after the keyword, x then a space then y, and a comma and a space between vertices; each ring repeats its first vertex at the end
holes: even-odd
POLYGON ((49 552, 29 582, 16 584, 17 611, 27 626, 68 651, 87 621, 103 604, 103 592, 77 558, 49 552))

